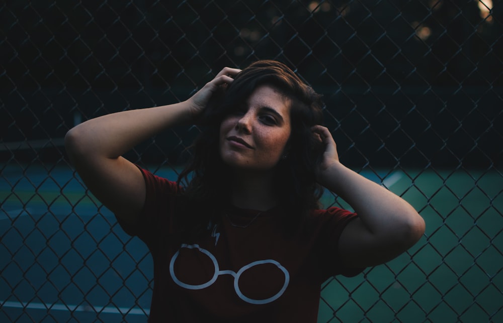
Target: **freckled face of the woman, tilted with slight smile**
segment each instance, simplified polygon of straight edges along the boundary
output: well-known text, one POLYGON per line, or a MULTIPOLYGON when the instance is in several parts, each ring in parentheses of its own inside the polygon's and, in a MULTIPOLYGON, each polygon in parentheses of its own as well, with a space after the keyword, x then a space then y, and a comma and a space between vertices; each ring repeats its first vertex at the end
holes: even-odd
POLYGON ((261 85, 222 121, 220 156, 237 169, 270 170, 286 153, 290 132, 290 99, 261 85))

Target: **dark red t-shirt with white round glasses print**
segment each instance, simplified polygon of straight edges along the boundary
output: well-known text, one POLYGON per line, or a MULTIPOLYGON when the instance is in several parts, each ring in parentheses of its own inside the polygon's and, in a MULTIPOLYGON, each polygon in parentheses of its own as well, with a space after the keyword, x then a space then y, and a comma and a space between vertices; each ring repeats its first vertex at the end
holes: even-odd
POLYGON ((330 276, 363 270, 339 261, 339 237, 356 214, 337 207, 313 210, 306 230, 287 237, 275 217, 279 207, 256 217, 256 210, 228 206, 197 243, 170 244, 166 237, 177 230, 173 213, 179 187, 142 172, 141 217, 134 226, 121 226, 152 254, 149 322, 316 322, 321 284, 330 276))

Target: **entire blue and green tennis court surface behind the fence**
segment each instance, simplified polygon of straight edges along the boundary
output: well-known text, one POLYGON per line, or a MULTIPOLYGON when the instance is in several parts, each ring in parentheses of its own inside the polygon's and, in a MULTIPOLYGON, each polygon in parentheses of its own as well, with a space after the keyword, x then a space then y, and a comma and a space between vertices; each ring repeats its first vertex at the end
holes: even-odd
MULTIPOLYGON (((47 313, 56 321, 116 321, 121 313, 145 321, 150 256, 71 168, 0 169, 0 321, 47 313)), ((156 173, 176 178, 171 169, 156 173)), ((503 321, 502 173, 360 173, 410 202, 424 217, 426 234, 385 265, 325 282, 318 322, 503 321)), ((322 203, 351 208, 330 192, 322 203)))

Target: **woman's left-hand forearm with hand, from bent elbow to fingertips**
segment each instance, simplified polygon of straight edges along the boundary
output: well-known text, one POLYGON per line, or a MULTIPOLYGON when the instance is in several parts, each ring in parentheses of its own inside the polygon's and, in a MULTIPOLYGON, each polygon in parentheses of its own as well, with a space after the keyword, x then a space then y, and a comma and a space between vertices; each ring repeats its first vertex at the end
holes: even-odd
POLYGON ((227 86, 239 69, 225 67, 186 101, 130 110, 86 121, 67 132, 65 147, 75 157, 116 159, 142 141, 173 126, 192 122, 206 109, 213 93, 227 86))

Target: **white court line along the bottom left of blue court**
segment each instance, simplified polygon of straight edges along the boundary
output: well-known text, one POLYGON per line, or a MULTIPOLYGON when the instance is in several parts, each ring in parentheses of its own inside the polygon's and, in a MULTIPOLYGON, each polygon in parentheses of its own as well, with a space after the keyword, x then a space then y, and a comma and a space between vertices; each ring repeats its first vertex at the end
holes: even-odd
POLYGON ((129 308, 129 307, 114 307, 114 306, 94 306, 94 305, 71 305, 71 304, 47 304, 35 302, 11 302, 0 300, 0 308, 25 308, 25 309, 45 309, 45 310, 67 310, 70 312, 97 312, 97 313, 114 313, 114 314, 138 314, 145 315, 150 313, 150 309, 129 308))

